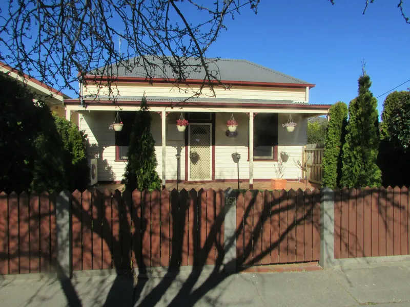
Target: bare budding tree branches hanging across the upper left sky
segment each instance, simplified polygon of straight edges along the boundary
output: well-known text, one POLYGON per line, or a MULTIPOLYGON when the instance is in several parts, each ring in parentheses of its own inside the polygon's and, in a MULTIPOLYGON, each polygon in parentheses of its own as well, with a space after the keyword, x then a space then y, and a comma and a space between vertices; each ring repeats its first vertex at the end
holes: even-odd
MULTIPOLYGON (((215 0, 205 6, 196 0, 9 0, 0 9, 0 61, 77 94, 77 81, 89 72, 104 76, 104 82, 96 81, 108 85, 112 94, 119 67, 132 71, 140 65, 145 71, 141 77, 148 81, 160 77, 175 84, 201 71, 203 84, 193 96, 204 87, 215 95, 213 86, 223 86, 217 59, 205 54, 226 29, 227 17, 243 9, 257 13, 259 2, 215 0), (123 50, 117 48, 118 39, 123 50)), ((373 2, 365 1, 364 12, 373 2)), ((410 23, 403 0, 398 8, 410 23)))

